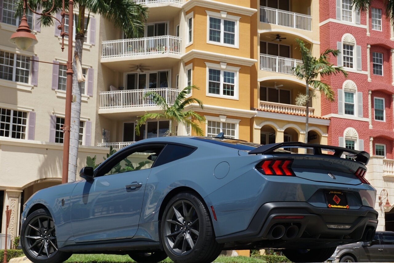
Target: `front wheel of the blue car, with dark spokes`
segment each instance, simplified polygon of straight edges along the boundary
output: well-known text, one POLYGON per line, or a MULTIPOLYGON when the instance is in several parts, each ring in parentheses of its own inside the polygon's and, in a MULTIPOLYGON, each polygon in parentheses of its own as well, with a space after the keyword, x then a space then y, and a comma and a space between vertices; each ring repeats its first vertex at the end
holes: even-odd
POLYGON ((58 250, 55 224, 45 209, 38 209, 26 218, 20 230, 20 245, 33 263, 59 263, 72 255, 58 250))

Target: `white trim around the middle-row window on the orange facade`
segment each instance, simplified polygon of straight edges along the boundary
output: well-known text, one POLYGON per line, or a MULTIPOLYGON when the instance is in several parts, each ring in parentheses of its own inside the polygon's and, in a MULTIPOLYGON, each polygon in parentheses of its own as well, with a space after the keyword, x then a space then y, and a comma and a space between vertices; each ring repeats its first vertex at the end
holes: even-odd
POLYGON ((221 62, 220 64, 214 64, 214 63, 208 63, 205 62, 206 65, 206 81, 205 81, 205 85, 206 85, 206 96, 208 97, 217 97, 217 98, 228 98, 231 100, 238 100, 239 98, 239 71, 240 71, 240 67, 232 67, 232 66, 227 66, 227 63, 223 63, 221 62), (220 94, 212 94, 209 93, 209 69, 217 69, 220 70, 220 94), (223 74, 222 72, 224 71, 232 71, 235 73, 235 80, 234 80, 234 96, 228 96, 228 95, 223 95, 223 74))

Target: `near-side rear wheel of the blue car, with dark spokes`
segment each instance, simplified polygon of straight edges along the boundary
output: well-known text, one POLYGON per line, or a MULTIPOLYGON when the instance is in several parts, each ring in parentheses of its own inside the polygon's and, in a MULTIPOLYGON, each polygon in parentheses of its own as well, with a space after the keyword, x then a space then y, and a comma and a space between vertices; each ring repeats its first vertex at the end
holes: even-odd
POLYGON ((216 242, 208 209, 191 192, 179 193, 167 203, 160 238, 175 263, 212 262, 223 248, 216 242))

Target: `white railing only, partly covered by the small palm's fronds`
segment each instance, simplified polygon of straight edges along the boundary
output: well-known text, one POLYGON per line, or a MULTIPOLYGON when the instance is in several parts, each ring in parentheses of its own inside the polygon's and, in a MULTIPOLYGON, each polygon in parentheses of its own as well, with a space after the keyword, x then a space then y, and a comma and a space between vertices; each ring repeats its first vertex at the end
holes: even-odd
POLYGON ((180 90, 172 88, 157 89, 132 89, 123 91, 103 91, 100 92, 99 109, 119 109, 133 107, 156 106, 151 96, 145 98, 149 91, 156 92, 165 98, 167 104, 174 104, 180 90))

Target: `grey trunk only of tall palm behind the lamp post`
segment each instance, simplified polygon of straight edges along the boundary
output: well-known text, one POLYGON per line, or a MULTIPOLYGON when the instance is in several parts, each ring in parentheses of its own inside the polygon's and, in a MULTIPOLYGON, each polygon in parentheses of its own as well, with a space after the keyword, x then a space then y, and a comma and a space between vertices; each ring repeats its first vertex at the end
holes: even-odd
MULTIPOLYGON (((79 62, 81 64, 82 64, 83 44, 84 44, 84 34, 76 33, 75 53, 78 55, 79 62)), ((80 116, 81 116, 82 83, 78 83, 78 73, 77 73, 78 69, 76 67, 75 56, 72 62, 72 71, 74 71, 74 74, 72 76, 72 95, 75 96, 75 101, 72 102, 71 104, 70 155, 69 155, 69 175, 68 175, 69 182, 74 182, 76 180, 76 164, 78 159, 78 147, 79 147, 79 124, 80 124, 80 116)))

